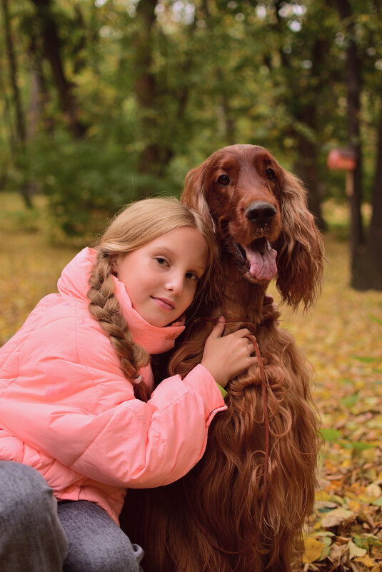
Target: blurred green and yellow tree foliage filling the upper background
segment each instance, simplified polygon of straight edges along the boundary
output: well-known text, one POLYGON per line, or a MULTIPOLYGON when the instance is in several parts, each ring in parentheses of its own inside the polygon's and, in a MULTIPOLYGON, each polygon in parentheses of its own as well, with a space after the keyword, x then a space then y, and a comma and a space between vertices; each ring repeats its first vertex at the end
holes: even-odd
MULTIPOLYGON (((20 157, 2 45, 0 176, 9 189, 37 184, 69 234, 86 229, 93 209, 153 192, 179 194, 189 169, 238 142, 267 146, 301 176, 313 161, 321 199, 346 199, 344 174, 326 166, 328 151, 347 144, 346 24, 335 4, 158 0, 155 13, 148 0, 46 4, 69 101, 85 133, 81 139, 71 133, 34 2, 9 2, 28 141, 27 156, 20 157)), ((351 4, 364 67, 368 200, 381 109, 382 26, 374 1, 351 4)))

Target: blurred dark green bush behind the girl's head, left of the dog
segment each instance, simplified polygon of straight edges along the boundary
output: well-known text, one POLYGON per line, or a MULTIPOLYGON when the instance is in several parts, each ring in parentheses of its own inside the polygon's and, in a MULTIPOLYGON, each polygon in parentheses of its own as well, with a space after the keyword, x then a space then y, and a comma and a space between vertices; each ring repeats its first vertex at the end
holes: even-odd
POLYGON ((69 236, 89 229, 122 205, 154 194, 176 194, 170 179, 135 171, 134 154, 115 141, 73 140, 65 132, 33 141, 29 173, 49 197, 54 219, 69 236))

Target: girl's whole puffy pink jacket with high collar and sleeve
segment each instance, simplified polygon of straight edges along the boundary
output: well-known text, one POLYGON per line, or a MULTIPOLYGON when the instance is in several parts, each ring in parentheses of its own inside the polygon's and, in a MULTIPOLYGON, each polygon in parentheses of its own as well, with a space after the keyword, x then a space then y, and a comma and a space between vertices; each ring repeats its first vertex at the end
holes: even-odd
MULTIPOLYGON (((201 365, 162 381, 148 403, 134 398, 87 308, 95 258, 92 249, 77 254, 59 293, 43 298, 0 349, 0 459, 36 468, 56 498, 93 501, 118 522, 126 488, 171 483, 196 464, 226 406, 201 365)), ((115 283, 134 341, 151 354, 171 349, 184 326, 151 326, 115 283)), ((151 367, 140 373, 153 388, 151 367)))

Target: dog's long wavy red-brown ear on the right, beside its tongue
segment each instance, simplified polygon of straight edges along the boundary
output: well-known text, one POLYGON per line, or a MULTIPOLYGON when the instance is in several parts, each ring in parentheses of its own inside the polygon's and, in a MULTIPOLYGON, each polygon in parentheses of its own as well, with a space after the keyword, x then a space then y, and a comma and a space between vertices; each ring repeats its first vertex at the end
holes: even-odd
POLYGON ((323 278, 323 239, 306 206, 306 191, 283 169, 281 216, 283 232, 277 242, 276 286, 289 306, 305 309, 316 301, 323 278))

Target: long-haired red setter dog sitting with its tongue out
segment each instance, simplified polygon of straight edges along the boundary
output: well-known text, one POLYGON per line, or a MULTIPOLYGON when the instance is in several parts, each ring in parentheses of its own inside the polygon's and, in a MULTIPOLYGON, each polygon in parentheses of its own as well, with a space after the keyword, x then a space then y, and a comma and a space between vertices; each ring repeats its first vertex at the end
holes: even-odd
POLYGON ((190 171, 182 201, 213 219, 221 285, 218 303, 203 310, 210 319, 193 324, 170 373, 183 376, 201 361, 213 318, 226 317, 226 333, 249 321, 257 326, 266 411, 260 367, 232 379, 228 411, 211 423, 201 461, 169 486, 128 491, 121 525, 144 547, 144 572, 289 572, 313 507, 318 427, 308 364, 293 338, 273 320, 261 323, 261 314, 275 276, 283 301, 313 303, 321 236, 298 179, 263 147, 216 151, 190 171))

